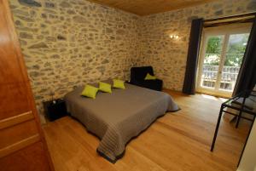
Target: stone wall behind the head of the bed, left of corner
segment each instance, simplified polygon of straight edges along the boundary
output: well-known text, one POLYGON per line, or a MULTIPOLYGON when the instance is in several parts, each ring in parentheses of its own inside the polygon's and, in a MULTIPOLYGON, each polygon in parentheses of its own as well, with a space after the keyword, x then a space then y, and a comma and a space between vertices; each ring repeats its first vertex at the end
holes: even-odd
POLYGON ((75 86, 126 79, 138 16, 85 0, 9 0, 37 105, 75 86))

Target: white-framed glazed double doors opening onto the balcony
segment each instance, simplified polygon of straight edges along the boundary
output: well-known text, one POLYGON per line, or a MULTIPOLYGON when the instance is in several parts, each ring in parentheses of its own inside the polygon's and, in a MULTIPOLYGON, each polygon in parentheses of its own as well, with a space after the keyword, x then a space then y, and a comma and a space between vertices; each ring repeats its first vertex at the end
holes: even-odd
POLYGON ((236 24, 203 31, 198 92, 226 97, 232 94, 251 28, 251 24, 236 24))

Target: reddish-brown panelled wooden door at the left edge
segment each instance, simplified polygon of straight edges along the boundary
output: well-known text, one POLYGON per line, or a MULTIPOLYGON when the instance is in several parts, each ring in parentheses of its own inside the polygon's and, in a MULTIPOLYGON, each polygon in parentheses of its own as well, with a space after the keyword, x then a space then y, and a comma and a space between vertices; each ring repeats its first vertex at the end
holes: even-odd
POLYGON ((0 0, 0 170, 53 170, 7 0, 0 0))

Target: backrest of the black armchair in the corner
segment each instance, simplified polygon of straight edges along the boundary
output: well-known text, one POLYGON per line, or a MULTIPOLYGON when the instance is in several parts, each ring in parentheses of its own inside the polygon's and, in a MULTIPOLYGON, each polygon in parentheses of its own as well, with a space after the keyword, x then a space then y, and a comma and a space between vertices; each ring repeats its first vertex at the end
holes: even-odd
POLYGON ((152 66, 132 67, 131 68, 131 82, 142 81, 147 74, 154 75, 152 66))

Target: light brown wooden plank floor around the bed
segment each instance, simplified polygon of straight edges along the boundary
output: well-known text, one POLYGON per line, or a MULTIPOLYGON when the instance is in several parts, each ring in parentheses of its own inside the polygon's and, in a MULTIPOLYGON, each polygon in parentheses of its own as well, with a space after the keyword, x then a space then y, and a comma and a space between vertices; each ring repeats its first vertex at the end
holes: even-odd
POLYGON ((70 117, 44 126, 56 171, 212 171, 236 170, 248 124, 236 129, 222 122, 210 151, 221 99, 168 92, 182 108, 160 117, 126 146, 125 157, 112 164, 96 153, 99 140, 70 117))

